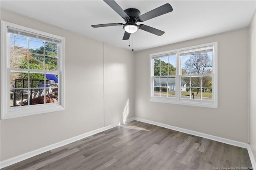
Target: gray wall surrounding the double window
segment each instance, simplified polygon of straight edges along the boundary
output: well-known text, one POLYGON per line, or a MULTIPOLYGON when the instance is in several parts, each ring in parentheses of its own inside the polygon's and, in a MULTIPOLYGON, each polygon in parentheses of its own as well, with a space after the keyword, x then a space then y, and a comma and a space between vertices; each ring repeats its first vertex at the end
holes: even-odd
POLYGON ((248 143, 247 28, 138 51, 135 62, 136 117, 248 143), (150 53, 210 42, 218 42, 218 109, 149 101, 150 53))

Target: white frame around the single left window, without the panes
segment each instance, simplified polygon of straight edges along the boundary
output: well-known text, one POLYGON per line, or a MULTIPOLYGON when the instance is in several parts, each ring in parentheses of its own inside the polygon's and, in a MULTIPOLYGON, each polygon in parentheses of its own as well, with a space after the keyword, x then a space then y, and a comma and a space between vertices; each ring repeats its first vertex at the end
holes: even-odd
POLYGON ((42 113, 50 113, 64 110, 64 56, 65 38, 27 28, 10 22, 1 20, 1 119, 10 119, 29 115, 37 115, 42 113), (30 105, 24 107, 10 107, 10 37, 8 36, 8 27, 31 32, 36 35, 42 35, 55 40, 58 43, 58 103, 49 103, 43 105, 30 105))

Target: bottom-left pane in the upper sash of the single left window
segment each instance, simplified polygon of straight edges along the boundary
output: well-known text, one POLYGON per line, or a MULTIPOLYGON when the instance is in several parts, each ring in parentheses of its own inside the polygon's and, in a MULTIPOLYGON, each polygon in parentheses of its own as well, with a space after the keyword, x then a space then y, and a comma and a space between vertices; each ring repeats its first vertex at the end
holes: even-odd
POLYGON ((10 68, 28 68, 28 53, 10 51, 10 68))

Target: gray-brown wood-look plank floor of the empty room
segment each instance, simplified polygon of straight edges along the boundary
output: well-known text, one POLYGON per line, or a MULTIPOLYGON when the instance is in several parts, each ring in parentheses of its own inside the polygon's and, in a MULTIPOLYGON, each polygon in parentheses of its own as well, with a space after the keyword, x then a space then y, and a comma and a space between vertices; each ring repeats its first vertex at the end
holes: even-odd
POLYGON ((250 168, 247 149, 132 121, 3 170, 250 168))

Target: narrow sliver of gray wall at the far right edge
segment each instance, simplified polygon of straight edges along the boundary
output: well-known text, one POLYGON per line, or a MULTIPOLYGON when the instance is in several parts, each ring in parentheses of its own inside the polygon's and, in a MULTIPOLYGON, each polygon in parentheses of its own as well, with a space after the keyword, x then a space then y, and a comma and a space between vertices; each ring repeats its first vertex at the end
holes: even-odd
MULTIPOLYGON (((249 27, 249 143, 256 159, 256 13, 249 27)), ((256 161, 256 160, 255 160, 256 161)))

